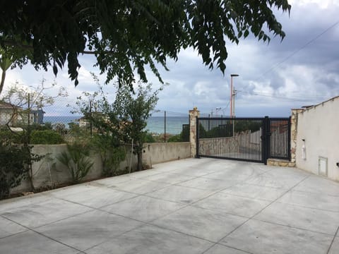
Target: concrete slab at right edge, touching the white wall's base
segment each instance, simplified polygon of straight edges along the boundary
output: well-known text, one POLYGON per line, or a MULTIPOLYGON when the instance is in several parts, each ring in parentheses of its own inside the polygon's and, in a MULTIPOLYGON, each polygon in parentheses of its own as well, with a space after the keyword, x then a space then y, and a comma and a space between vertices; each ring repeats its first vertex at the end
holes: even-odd
POLYGON ((309 176, 305 181, 299 183, 294 190, 339 196, 338 182, 325 179, 321 176, 309 176))

